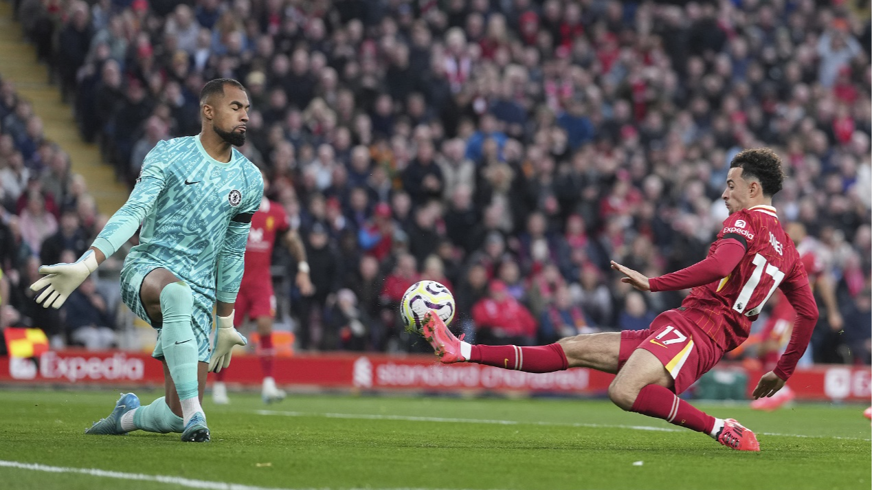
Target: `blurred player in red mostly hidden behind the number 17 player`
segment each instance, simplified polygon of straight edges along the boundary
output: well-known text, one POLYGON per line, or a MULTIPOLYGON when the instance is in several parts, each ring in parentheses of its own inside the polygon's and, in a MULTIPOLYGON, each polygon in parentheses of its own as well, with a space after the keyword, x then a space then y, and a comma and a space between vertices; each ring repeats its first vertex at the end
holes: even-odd
MULTIPOLYGON (((826 273, 823 261, 817 255, 814 239, 807 236, 806 227, 799 222, 788 224, 786 231, 787 235, 793 239, 796 250, 800 253, 800 260, 808 275, 808 283, 811 284, 812 290, 821 297, 827 308, 829 327, 835 331, 841 330, 842 319, 839 305, 835 299, 835 284, 826 273)), ((787 348, 796 320, 796 311, 787 301, 784 293, 776 291, 771 299, 775 304, 766 324, 763 325, 763 330, 760 330, 758 357, 760 357, 763 371, 775 369, 780 353, 787 348)), ((771 398, 753 400, 751 408, 766 411, 776 410, 793 401, 794 398, 796 398, 794 391, 790 389, 790 386, 785 385, 771 398)))

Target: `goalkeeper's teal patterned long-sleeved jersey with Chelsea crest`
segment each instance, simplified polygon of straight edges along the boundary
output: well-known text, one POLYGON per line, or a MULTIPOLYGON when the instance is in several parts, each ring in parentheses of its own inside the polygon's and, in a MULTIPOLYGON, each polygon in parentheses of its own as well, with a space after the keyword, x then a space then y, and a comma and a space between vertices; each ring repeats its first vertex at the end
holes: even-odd
POLYGON ((160 141, 94 246, 108 257, 141 223, 140 244, 126 261, 159 264, 195 290, 234 303, 250 228, 245 214, 257 211, 262 194, 260 170, 235 148, 221 163, 199 135, 160 141))

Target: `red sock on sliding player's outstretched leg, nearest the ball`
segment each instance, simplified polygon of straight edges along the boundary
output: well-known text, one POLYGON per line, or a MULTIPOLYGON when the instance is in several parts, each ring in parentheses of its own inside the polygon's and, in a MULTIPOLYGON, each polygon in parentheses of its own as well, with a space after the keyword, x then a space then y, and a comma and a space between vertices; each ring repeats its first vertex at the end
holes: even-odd
POLYGON ((473 345, 473 363, 525 372, 563 371, 569 367, 560 344, 518 347, 517 345, 473 345))

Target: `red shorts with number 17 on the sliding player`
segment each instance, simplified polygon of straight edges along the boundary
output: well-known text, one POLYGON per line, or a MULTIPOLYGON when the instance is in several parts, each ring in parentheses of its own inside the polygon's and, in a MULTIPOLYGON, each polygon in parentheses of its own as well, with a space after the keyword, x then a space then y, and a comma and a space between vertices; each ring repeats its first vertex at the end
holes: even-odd
POLYGON ((644 349, 663 363, 675 380, 680 394, 711 370, 724 350, 712 337, 688 320, 678 310, 661 313, 647 330, 622 330, 617 369, 621 369, 634 350, 644 349))

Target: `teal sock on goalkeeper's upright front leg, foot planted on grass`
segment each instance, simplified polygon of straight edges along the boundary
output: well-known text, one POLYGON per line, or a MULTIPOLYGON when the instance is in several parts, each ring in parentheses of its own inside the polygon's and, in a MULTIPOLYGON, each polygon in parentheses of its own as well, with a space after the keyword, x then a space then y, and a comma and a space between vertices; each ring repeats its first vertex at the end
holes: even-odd
POLYGON ((203 411, 200 398, 197 397, 199 352, 194 329, 191 328, 193 310, 194 296, 186 282, 172 282, 160 291, 160 312, 163 315, 160 346, 163 347, 175 391, 179 393, 185 424, 194 417, 194 413, 203 411))

